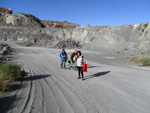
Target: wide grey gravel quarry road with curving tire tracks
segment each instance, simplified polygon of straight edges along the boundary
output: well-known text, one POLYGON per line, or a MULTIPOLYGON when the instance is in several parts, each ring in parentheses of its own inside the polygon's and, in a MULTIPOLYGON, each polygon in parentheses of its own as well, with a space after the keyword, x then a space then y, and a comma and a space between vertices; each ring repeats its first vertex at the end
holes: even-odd
POLYGON ((76 71, 60 69, 60 50, 9 44, 28 73, 10 113, 150 112, 149 71, 86 59, 89 68, 82 81, 76 71))

